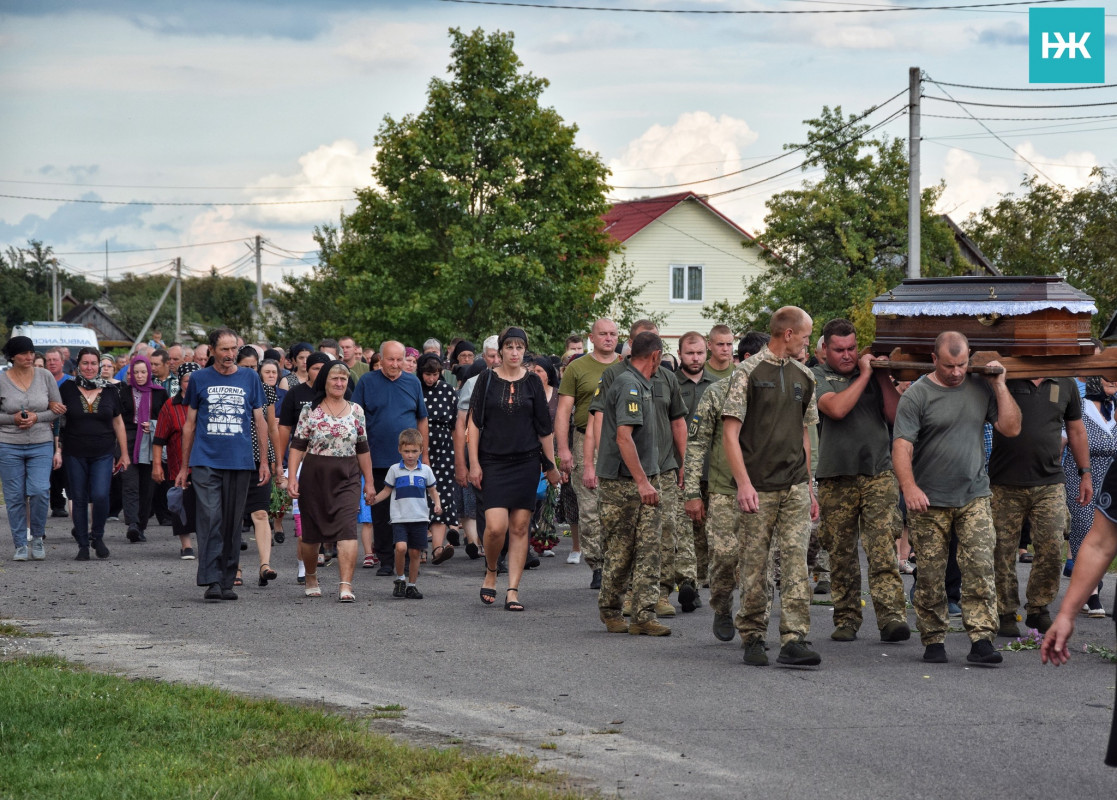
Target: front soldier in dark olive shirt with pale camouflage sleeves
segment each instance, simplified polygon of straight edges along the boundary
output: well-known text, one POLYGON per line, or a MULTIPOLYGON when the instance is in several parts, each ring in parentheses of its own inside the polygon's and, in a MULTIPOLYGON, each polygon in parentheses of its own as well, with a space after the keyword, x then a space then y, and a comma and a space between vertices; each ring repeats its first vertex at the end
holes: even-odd
POLYGON ((722 444, 742 511, 741 610, 736 625, 745 663, 767 665, 764 609, 771 547, 780 546, 780 640, 776 659, 813 666, 822 658, 808 647, 811 585, 806 543, 818 504, 810 485, 809 425, 815 425, 814 377, 795 360, 811 337, 811 317, 785 306, 772 315, 772 339, 729 378, 722 407, 722 444), (773 533, 776 535, 773 536, 773 533))

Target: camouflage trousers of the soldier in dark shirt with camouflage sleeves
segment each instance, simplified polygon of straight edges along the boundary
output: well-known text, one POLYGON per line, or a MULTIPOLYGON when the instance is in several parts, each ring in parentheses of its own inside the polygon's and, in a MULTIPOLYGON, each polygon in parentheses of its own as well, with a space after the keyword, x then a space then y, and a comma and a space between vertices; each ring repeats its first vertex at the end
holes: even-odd
POLYGON ((771 611, 770 556, 772 547, 779 545, 783 559, 780 641, 785 645, 805 637, 811 629, 811 580, 806 573, 811 498, 805 483, 780 492, 760 492, 758 496, 760 509, 755 514, 741 514, 737 551, 741 609, 735 623, 742 640, 766 636, 771 611))

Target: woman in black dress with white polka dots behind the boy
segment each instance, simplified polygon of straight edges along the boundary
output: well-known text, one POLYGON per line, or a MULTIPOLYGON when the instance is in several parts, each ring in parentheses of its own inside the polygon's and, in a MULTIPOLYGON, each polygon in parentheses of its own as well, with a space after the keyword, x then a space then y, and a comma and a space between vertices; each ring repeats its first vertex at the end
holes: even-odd
POLYGON ((442 380, 442 360, 437 353, 423 353, 417 364, 422 381, 422 399, 427 403, 430 468, 438 478, 438 496, 445 498, 442 513, 431 508, 430 536, 435 549, 432 563, 440 564, 454 556, 454 545, 446 542, 447 526, 457 527, 454 507, 454 423, 458 418, 458 394, 442 380))

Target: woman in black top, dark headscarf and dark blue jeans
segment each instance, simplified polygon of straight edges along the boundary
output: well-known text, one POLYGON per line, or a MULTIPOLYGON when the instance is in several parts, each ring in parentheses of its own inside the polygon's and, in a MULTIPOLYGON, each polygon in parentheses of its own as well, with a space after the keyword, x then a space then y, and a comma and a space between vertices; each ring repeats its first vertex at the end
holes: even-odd
MULTIPOLYGON (((109 363, 112 361, 109 360, 109 363)), ((99 377, 103 360, 94 347, 77 353, 77 374, 58 388, 66 406, 61 431, 63 466, 67 493, 74 504, 74 539, 77 561, 89 560, 89 504, 93 504, 93 549, 98 559, 108 558, 105 520, 113 473, 128 468, 131 455, 121 396, 109 380, 99 377), (116 453, 120 457, 116 457, 116 453)))

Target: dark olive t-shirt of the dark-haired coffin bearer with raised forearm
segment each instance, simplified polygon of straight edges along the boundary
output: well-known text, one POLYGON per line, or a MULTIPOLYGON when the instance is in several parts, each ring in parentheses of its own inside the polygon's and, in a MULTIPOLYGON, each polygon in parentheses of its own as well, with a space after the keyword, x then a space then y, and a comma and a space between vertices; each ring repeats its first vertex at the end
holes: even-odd
MULTIPOLYGON (((843 392, 857 380, 859 369, 848 375, 827 364, 814 368, 817 400, 823 394, 843 392)), ((828 417, 819 409, 819 466, 815 476, 837 478, 852 475, 880 475, 892 468, 892 442, 885 420, 880 384, 870 378, 853 408, 843 419, 828 417)))

